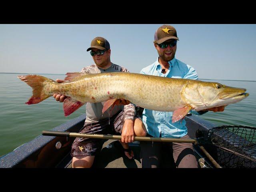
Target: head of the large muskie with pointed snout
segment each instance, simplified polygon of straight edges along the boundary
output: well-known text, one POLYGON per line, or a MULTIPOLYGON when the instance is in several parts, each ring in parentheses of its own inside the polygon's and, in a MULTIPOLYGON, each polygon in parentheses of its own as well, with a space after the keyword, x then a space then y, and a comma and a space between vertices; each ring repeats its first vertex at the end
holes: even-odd
POLYGON ((230 87, 218 82, 194 81, 184 89, 186 102, 196 111, 239 102, 248 97, 244 88, 230 87))

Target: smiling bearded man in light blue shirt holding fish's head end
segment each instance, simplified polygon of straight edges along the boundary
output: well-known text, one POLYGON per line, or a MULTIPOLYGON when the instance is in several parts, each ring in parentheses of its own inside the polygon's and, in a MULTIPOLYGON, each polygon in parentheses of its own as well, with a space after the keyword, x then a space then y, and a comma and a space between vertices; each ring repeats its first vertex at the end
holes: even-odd
MULTIPOLYGON (((163 25, 156 30, 154 35, 154 46, 158 52, 156 62, 143 68, 140 73, 167 78, 186 78, 198 80, 196 70, 175 58, 177 32, 173 26, 163 25)), ((223 111, 224 106, 211 108, 212 111, 223 111)), ((208 110, 193 114, 204 114, 208 110)), ((180 120, 172 123, 172 112, 161 112, 144 109, 142 121, 147 130, 147 136, 169 137, 188 139, 186 121, 180 120)), ((192 143, 162 143, 162 142, 140 142, 142 168, 161 167, 162 148, 167 147, 173 151, 173 158, 178 168, 198 168, 192 143)))

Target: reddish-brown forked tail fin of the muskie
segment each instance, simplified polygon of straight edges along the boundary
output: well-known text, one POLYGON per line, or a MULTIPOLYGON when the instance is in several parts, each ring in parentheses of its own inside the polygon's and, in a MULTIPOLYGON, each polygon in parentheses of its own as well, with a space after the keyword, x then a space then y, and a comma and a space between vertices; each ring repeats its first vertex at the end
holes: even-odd
POLYGON ((47 94, 44 91, 44 82, 54 82, 46 77, 39 76, 39 75, 20 75, 17 76, 20 80, 26 82, 30 87, 32 87, 33 95, 32 97, 26 102, 26 104, 37 104, 48 97, 52 96, 51 94, 47 94))

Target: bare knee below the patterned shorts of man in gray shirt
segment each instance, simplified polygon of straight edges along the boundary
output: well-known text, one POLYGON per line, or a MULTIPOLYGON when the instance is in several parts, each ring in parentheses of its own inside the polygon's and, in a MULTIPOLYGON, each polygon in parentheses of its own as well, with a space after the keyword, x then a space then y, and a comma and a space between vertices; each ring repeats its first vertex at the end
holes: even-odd
POLYGON ((90 168, 95 156, 76 156, 72 158, 73 168, 90 168))

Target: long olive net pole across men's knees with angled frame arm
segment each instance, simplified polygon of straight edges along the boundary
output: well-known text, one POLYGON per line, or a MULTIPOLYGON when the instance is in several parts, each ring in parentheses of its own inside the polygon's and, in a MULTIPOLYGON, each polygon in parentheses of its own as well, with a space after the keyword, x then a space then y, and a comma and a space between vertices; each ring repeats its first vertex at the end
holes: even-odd
MULTIPOLYGON (((121 140, 120 135, 105 135, 105 134, 86 134, 86 133, 74 133, 74 132, 62 132, 62 131, 42 131, 44 136, 63 136, 63 137, 80 137, 80 138, 96 138, 96 139, 116 139, 121 140)), ((152 142, 182 142, 182 143, 194 143, 198 144, 196 139, 180 139, 180 138, 157 138, 157 137, 142 137, 134 136, 134 141, 152 141, 152 142)), ((222 168, 215 160, 210 156, 210 154, 205 150, 203 146, 200 149, 212 162, 216 168, 222 168)))

